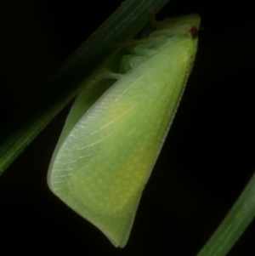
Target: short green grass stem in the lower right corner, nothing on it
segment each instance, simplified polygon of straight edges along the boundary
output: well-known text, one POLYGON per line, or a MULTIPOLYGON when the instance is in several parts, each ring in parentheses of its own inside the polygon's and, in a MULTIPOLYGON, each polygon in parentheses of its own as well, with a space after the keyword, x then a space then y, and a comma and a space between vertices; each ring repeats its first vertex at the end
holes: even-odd
POLYGON ((241 236, 255 215, 255 174, 235 205, 197 256, 224 256, 241 236))

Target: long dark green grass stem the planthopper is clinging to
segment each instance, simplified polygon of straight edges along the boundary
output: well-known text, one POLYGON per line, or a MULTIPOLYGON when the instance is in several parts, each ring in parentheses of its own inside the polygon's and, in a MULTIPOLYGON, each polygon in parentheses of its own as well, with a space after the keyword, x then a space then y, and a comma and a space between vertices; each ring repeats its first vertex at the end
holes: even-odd
POLYGON ((82 81, 100 61, 111 53, 109 48, 133 37, 148 21, 148 9, 157 13, 170 0, 127 0, 105 20, 88 40, 65 61, 49 81, 48 90, 31 106, 31 113, 18 128, 8 128, 0 144, 0 175, 25 150, 79 91, 82 81))

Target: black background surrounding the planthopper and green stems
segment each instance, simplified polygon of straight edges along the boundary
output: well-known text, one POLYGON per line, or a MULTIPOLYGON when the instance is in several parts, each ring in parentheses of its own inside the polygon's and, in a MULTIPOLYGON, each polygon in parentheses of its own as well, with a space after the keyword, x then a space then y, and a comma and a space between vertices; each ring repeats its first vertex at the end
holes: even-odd
MULTIPOLYGON (((1 1, 3 131, 20 120, 66 58, 122 1, 1 1)), ((254 10, 249 1, 173 0, 158 14, 198 13, 194 70, 118 249, 46 183, 70 105, 0 179, 1 255, 195 255, 254 171, 254 10)), ((228 255, 253 255, 255 226, 228 255)))

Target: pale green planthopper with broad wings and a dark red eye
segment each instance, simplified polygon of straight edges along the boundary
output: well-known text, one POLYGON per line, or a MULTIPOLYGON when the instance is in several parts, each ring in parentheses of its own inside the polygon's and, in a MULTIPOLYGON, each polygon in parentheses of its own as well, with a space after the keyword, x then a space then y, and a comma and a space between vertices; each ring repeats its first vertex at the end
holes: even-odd
POLYGON ((50 189, 116 247, 127 243, 177 111, 195 60, 199 25, 197 14, 158 23, 123 56, 124 74, 109 73, 119 77, 116 82, 99 82, 77 96, 54 151, 50 189))

